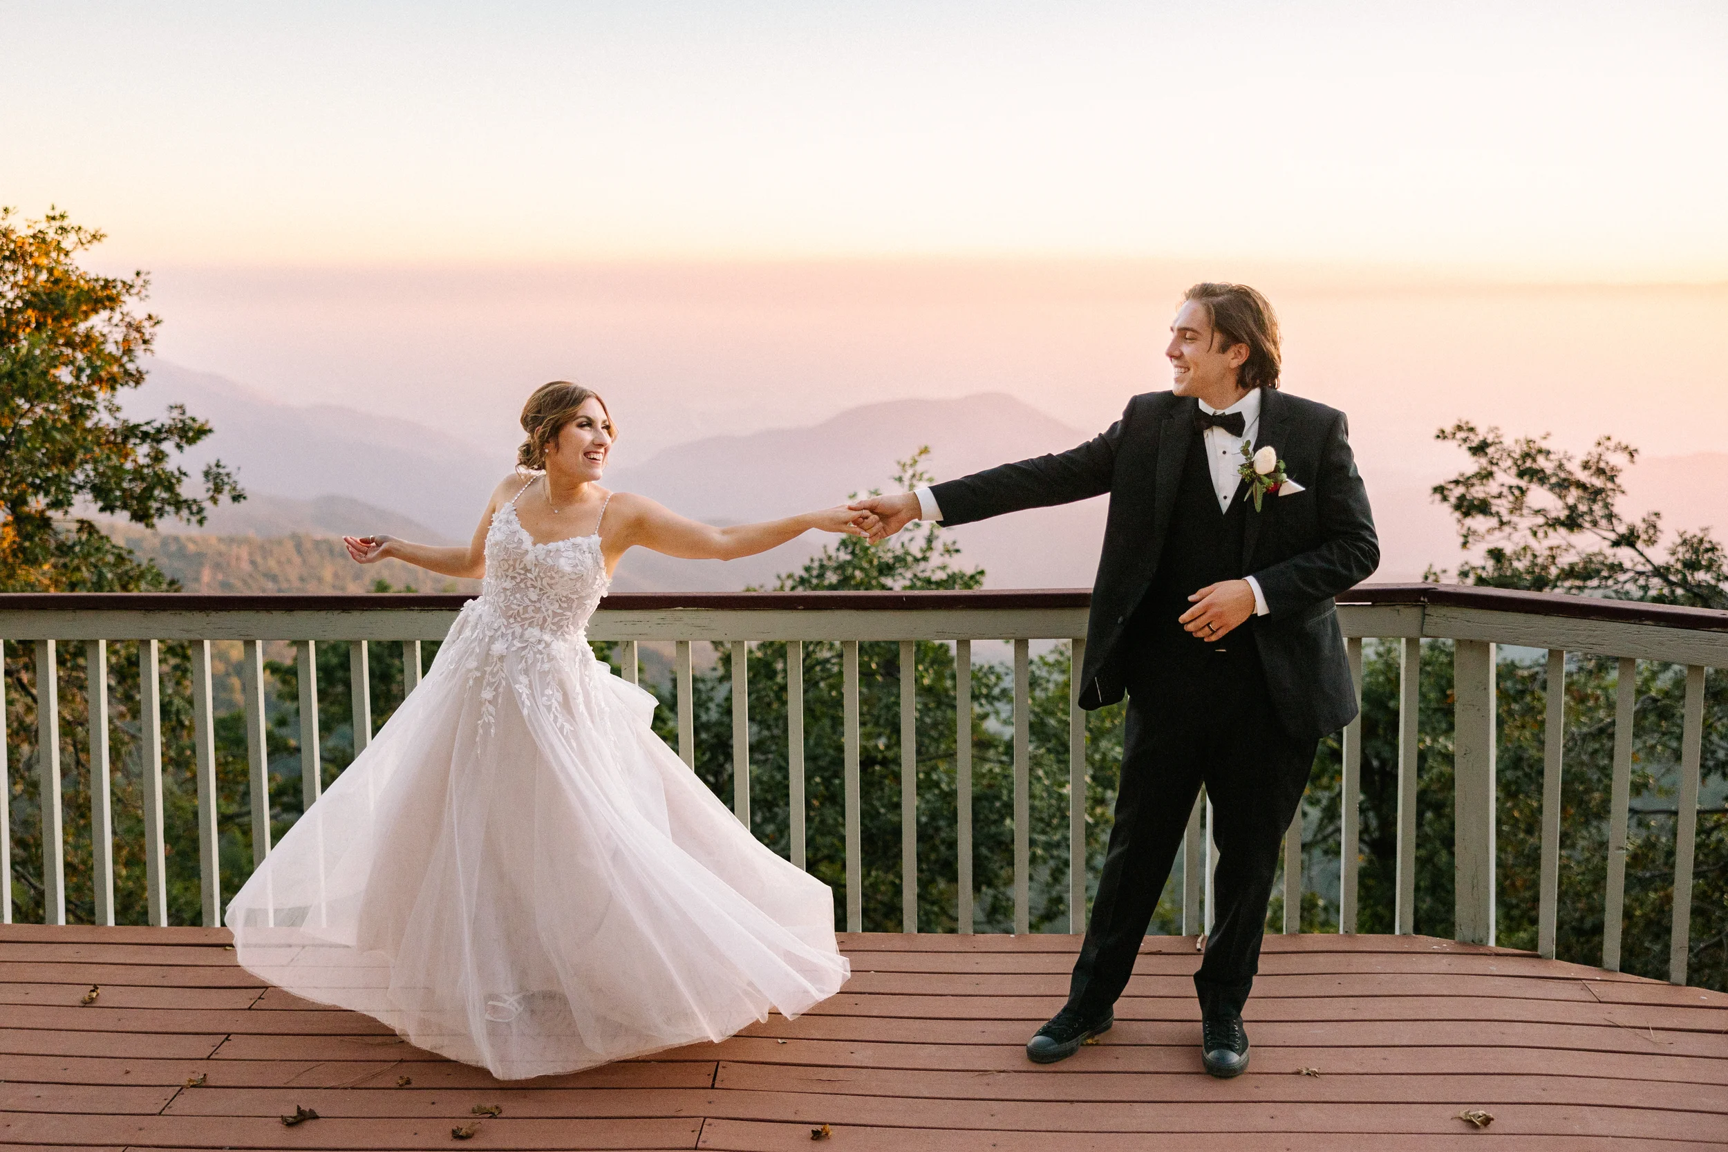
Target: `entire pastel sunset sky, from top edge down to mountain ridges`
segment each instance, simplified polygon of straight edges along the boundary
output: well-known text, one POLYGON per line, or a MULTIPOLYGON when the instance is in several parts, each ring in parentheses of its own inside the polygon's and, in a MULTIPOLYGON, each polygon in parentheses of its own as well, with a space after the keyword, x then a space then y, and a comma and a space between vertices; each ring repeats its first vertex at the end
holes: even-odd
POLYGON ((147 268, 164 359, 501 465, 556 377, 636 463, 904 396, 1090 432, 1196 280, 1272 295, 1382 520, 1460 416, 1723 451, 1725 142, 1721 0, 0 0, 0 204, 147 268))

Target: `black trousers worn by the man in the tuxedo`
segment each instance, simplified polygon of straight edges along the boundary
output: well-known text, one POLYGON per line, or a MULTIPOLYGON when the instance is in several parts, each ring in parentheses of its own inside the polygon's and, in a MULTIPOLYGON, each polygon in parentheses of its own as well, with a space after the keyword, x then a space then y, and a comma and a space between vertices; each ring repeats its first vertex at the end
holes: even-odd
POLYGON ((1253 639, 1220 642, 1151 646, 1130 670, 1116 822, 1068 991, 1087 1016, 1134 974, 1201 784, 1218 846, 1217 910, 1194 974, 1201 1012, 1241 1012, 1260 971, 1279 850, 1318 741, 1279 725, 1253 639))

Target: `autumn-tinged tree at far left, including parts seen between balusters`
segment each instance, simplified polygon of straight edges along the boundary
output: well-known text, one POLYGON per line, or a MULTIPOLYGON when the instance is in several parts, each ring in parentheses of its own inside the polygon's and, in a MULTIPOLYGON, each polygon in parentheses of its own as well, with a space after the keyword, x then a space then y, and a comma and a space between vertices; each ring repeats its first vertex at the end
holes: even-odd
MULTIPOLYGON (((242 499, 233 477, 213 463, 202 492, 173 456, 211 428, 175 406, 164 420, 130 420, 119 396, 143 383, 157 318, 138 314, 149 278, 98 276, 79 256, 102 240, 64 212, 19 221, 0 209, 0 592, 173 591, 88 518, 124 516, 154 527, 162 518, 204 522, 218 499, 242 499)), ((36 668, 19 644, 0 648, 7 684, 12 767, 9 877, 21 921, 41 919, 41 824, 35 734, 36 668)), ((66 812, 67 912, 90 919, 90 765, 86 667, 81 644, 59 646, 62 718, 62 807, 66 812)), ((143 857, 138 758, 137 644, 109 653, 116 905, 123 921, 143 921, 143 857)), ((233 724, 230 722, 230 727, 233 724)), ((238 731, 238 729, 237 729, 238 731)), ((185 644, 162 646, 164 819, 169 827, 171 917, 199 914, 195 794, 192 777, 192 663, 185 644)), ((244 748, 244 744, 242 744, 244 748)), ((226 817, 244 812, 245 767, 218 758, 226 817)), ((233 827, 233 820, 228 822, 233 827)), ((225 834, 225 853, 238 841, 225 834)))

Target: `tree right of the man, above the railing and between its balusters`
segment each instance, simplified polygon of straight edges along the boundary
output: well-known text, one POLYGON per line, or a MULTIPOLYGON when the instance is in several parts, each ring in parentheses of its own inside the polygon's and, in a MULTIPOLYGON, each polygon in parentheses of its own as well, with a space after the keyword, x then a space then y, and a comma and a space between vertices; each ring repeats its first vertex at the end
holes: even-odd
MULTIPOLYGON (((1547 437, 1509 440, 1498 428, 1457 423, 1438 437, 1472 459, 1434 487, 1474 558, 1467 584, 1680 603, 1728 604, 1728 572, 1709 532, 1664 534, 1661 515, 1633 520, 1619 510, 1624 468, 1636 449, 1597 440, 1581 459, 1547 437)), ((1429 579, 1445 573, 1429 570, 1429 579)), ((1626 846, 1621 967, 1668 978, 1673 912, 1674 796, 1680 782, 1685 668, 1640 661, 1633 725, 1633 812, 1626 846)), ((1560 959, 1602 959, 1617 661, 1567 658, 1560 815, 1560 884, 1555 950, 1560 959)), ((1547 660, 1502 649, 1498 665, 1498 940, 1536 946, 1547 660)), ((1424 641, 1420 660, 1415 929, 1453 931, 1452 644, 1424 641)), ((1728 786, 1728 677, 1706 682, 1704 794, 1728 786)), ((1398 793, 1398 651, 1365 646, 1362 729, 1360 931, 1393 926, 1398 793)), ((1337 867, 1337 774, 1320 772, 1306 800, 1310 867, 1337 867)), ((1699 815, 1688 979, 1728 988, 1728 813, 1719 801, 1699 815)), ((1336 872, 1334 872, 1336 874, 1336 872)), ((1336 924, 1336 910, 1331 910, 1336 924)))

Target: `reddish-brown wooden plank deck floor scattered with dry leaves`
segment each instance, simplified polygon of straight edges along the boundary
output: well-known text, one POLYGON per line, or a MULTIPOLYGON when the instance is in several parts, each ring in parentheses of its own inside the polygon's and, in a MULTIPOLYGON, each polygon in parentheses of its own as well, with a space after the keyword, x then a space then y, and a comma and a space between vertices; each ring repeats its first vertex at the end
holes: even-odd
POLYGON ((0 1145, 1728 1147, 1728 995, 1426 936, 1268 936, 1232 1081, 1199 1071, 1192 938, 1149 940, 1115 1031, 1051 1067, 1021 1045, 1061 1005, 1073 936, 845 936, 852 981, 798 1021, 511 1085, 266 988, 225 945, 0 927, 0 1145), (477 1105, 503 1112, 456 1140, 477 1105), (320 1119, 283 1126, 295 1107, 320 1119))

